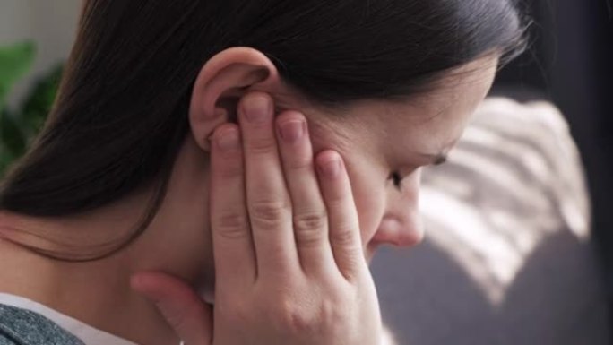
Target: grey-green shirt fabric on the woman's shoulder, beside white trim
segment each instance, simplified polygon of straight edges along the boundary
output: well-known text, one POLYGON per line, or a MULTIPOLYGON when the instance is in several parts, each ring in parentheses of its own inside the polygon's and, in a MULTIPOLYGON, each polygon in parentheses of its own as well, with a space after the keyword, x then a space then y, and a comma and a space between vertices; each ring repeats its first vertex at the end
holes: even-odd
POLYGON ((0 305, 0 345, 85 345, 45 316, 0 305))

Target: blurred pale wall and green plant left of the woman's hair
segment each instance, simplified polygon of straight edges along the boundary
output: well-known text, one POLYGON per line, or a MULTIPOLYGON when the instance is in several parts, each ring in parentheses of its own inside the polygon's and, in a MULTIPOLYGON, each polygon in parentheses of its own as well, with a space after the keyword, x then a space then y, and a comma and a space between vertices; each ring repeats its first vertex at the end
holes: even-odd
POLYGON ((0 176, 47 115, 80 8, 81 0, 0 1, 0 176))

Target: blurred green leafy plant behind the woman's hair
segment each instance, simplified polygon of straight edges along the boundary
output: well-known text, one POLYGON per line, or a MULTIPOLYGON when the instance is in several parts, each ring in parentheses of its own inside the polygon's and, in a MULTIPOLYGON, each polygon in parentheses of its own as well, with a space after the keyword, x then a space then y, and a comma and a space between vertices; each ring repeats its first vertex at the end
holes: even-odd
POLYGON ((0 47, 0 177, 27 150, 56 98, 63 65, 39 78, 20 107, 8 106, 13 86, 30 72, 35 56, 36 46, 31 41, 0 47))

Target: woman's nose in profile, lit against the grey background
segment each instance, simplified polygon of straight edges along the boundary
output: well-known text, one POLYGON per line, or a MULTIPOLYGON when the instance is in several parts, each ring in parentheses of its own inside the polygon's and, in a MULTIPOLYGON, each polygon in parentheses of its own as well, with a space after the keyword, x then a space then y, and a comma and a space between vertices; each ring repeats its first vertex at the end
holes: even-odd
POLYGON ((383 218, 373 241, 379 244, 410 247, 424 238, 424 224, 419 213, 419 171, 405 177, 401 192, 390 191, 383 218))

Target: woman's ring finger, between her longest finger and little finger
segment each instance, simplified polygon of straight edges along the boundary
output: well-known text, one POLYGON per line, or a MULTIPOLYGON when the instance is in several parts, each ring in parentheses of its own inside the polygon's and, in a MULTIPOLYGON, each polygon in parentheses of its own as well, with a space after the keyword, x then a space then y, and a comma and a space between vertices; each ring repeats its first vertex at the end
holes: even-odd
POLYGON ((300 265, 305 272, 330 270, 335 264, 328 239, 328 217, 315 175, 307 121, 301 114, 289 111, 278 117, 277 128, 300 265))

